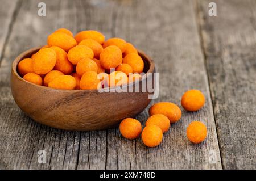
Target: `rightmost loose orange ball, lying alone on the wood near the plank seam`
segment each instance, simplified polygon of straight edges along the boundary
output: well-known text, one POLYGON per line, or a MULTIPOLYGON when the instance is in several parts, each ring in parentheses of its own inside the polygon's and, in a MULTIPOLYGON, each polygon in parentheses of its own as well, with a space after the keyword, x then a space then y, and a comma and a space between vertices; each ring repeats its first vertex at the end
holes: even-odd
POLYGON ((192 121, 187 127, 188 140, 199 144, 207 137, 207 127, 201 121, 192 121))

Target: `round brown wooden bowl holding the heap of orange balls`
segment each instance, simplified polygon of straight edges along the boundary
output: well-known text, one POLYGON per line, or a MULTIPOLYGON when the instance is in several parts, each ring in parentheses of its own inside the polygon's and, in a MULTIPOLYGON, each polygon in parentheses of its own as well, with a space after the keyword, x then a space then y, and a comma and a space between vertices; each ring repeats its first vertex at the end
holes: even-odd
MULTIPOLYGON (((11 91, 16 104, 38 123, 73 131, 112 128, 122 119, 138 115, 150 103, 148 95, 152 93, 149 92, 61 90, 27 82, 18 74, 17 65, 39 49, 32 48, 16 57, 11 70, 11 91)), ((125 86, 126 89, 134 90, 131 86, 139 83, 141 90, 142 82, 150 77, 154 82, 154 61, 141 51, 139 55, 144 61, 146 75, 140 81, 125 86)))

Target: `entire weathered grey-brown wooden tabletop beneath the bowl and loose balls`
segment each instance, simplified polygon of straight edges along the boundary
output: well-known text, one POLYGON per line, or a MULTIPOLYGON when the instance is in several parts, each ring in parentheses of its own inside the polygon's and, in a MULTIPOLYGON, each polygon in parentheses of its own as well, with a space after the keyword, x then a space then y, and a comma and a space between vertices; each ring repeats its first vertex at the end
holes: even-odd
MULTIPOLYGON (((40 1, 0 0, 0 169, 255 169, 256 1, 40 1), (147 52, 160 76, 159 101, 180 106, 199 89, 200 111, 183 111, 157 148, 126 140, 118 128, 71 132, 32 121, 10 91, 10 65, 19 53, 46 44, 65 27, 122 37, 147 52), (201 120, 207 140, 191 144, 187 125, 201 120), (38 163, 38 151, 46 163, 38 163), (214 159, 216 158, 216 159, 214 159)), ((148 106, 149 107, 149 106, 148 106)), ((181 107, 181 106, 180 106, 181 107)), ((148 108, 137 119, 143 123, 148 108)))

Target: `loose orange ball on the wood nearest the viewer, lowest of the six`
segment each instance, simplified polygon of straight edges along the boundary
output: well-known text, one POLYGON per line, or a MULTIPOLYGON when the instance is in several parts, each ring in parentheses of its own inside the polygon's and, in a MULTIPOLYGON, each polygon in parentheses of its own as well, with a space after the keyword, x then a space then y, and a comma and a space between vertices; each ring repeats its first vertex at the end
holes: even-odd
POLYGON ((141 134, 143 143, 148 147, 158 146, 163 140, 163 132, 157 125, 147 125, 141 134))

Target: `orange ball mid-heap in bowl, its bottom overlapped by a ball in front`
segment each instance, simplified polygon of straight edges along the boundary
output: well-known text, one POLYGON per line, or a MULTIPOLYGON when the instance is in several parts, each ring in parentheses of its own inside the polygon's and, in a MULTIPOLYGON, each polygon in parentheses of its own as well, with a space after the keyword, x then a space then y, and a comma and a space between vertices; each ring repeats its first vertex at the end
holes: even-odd
POLYGON ((94 62, 90 58, 81 59, 76 65, 76 73, 77 75, 79 75, 79 77, 82 77, 82 75, 86 71, 95 71, 97 73, 97 70, 98 70, 98 66, 96 62, 94 62))

